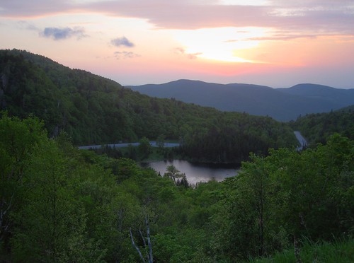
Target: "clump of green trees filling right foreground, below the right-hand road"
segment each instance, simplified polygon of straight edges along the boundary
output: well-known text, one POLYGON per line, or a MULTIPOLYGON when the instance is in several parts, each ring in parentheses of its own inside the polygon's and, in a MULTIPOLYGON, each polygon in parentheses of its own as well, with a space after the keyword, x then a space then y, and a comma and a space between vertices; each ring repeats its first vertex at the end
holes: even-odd
POLYGON ((353 149, 353 141, 337 134, 326 146, 272 150, 243 163, 241 173, 225 182, 230 188, 219 206, 222 217, 213 216, 215 250, 236 260, 271 255, 294 239, 351 237, 353 149))

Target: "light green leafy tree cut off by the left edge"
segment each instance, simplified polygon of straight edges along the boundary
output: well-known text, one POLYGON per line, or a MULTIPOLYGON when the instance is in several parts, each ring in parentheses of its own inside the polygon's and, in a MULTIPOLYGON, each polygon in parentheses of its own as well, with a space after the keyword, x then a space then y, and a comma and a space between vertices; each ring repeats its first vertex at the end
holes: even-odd
POLYGON ((24 170, 35 147, 47 138, 37 118, 18 119, 0 112, 0 241, 11 231, 11 213, 23 199, 24 170))

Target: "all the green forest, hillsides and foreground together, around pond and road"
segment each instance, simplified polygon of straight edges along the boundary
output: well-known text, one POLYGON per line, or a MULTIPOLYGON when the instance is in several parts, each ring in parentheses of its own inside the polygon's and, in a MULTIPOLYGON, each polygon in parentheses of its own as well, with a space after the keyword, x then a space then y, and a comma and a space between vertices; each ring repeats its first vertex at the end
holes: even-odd
POLYGON ((18 50, 0 74, 0 262, 354 262, 352 107, 285 124, 18 50), (295 128, 311 147, 296 151, 295 128), (190 186, 77 148, 140 141, 143 155, 147 138, 241 170, 190 186))

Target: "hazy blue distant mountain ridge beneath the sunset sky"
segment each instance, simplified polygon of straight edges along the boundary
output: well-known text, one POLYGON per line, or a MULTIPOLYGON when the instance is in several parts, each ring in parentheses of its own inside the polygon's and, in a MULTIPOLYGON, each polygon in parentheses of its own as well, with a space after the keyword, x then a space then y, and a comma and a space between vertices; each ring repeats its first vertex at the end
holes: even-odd
POLYGON ((309 83, 290 88, 270 88, 244 83, 219 84, 182 79, 127 88, 157 98, 175 98, 223 111, 268 115, 280 121, 354 104, 354 89, 343 90, 309 83))

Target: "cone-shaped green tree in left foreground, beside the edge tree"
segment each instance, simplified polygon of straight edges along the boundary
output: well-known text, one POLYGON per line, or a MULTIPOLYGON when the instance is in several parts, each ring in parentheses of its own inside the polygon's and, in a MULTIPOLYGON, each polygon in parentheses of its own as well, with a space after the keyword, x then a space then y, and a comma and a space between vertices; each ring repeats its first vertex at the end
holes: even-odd
POLYGON ((24 170, 25 198, 13 216, 16 261, 84 262, 105 256, 97 240, 88 237, 84 199, 75 198, 83 182, 71 164, 50 139, 33 152, 24 170))

